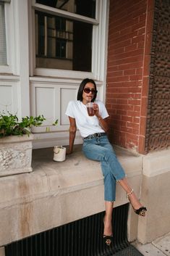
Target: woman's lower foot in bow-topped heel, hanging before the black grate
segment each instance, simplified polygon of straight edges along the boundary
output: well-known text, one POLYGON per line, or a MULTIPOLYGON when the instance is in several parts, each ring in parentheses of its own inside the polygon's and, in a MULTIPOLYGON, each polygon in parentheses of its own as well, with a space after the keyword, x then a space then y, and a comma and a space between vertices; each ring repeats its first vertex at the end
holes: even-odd
POLYGON ((103 218, 103 223, 104 223, 103 239, 105 244, 110 246, 113 238, 111 218, 105 215, 105 217, 103 218))

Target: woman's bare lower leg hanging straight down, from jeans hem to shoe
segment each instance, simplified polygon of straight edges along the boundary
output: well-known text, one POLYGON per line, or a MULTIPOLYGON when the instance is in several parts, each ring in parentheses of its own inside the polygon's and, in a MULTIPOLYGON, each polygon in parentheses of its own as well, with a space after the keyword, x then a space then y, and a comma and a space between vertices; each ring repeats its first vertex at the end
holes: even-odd
POLYGON ((114 202, 105 201, 106 214, 104 216, 104 230, 103 236, 111 236, 112 235, 112 212, 114 207, 114 202))

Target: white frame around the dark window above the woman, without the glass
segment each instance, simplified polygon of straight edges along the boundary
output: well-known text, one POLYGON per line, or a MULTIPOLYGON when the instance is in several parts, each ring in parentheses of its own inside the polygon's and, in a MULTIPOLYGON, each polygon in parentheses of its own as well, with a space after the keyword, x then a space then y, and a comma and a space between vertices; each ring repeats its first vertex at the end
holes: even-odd
POLYGON ((47 7, 43 4, 37 4, 32 0, 30 4, 30 76, 52 76, 57 78, 77 78, 85 77, 95 80, 104 80, 106 72, 106 38, 108 25, 109 1, 96 0, 96 19, 84 17, 71 12, 65 12, 61 9, 47 7), (93 24, 93 45, 92 45, 92 72, 83 72, 75 70, 59 70, 35 67, 35 9, 48 12, 50 14, 60 15, 62 17, 72 18, 74 20, 86 21, 93 24))

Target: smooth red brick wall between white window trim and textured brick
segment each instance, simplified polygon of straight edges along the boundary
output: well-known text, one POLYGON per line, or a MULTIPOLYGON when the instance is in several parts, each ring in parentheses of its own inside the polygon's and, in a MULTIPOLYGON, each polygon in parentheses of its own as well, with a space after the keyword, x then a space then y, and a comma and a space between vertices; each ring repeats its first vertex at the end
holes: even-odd
MULTIPOLYGON (((150 40, 148 43, 146 32, 151 26, 148 20, 153 20, 153 17, 148 19, 148 7, 152 9, 152 5, 152 0, 110 0, 109 9, 106 87, 106 107, 111 119, 109 135, 112 143, 137 152, 143 152, 141 132, 145 141, 141 111, 146 117, 148 80, 145 79, 144 98, 143 83, 144 76, 149 75, 149 65, 145 74, 144 70, 146 60, 150 63, 150 40), (145 46, 148 46, 148 54, 145 46)), ((151 34, 148 36, 151 38, 151 34)))

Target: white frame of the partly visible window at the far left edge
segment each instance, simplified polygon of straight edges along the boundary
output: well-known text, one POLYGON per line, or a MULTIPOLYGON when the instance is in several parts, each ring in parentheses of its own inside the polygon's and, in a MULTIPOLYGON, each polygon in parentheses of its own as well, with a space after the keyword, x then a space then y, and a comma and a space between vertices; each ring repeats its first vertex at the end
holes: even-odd
POLYGON ((14 1, 4 1, 4 15, 5 15, 5 32, 6 32, 6 44, 7 44, 7 65, 0 66, 1 73, 15 73, 14 63, 16 59, 16 47, 15 47, 15 27, 14 27, 14 1))

